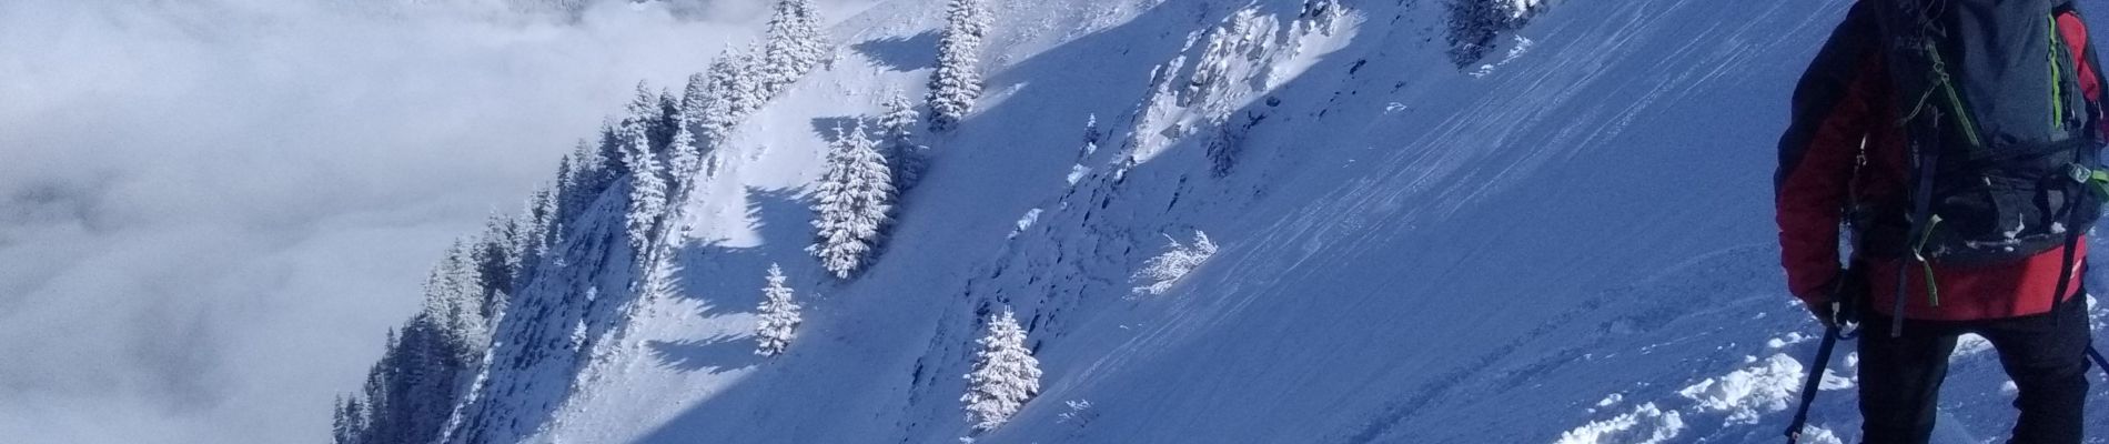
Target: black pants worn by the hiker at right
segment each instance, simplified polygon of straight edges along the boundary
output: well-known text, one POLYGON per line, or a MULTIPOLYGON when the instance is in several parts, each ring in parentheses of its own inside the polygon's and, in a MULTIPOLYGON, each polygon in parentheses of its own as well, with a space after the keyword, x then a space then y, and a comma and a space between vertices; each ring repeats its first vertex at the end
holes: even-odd
POLYGON ((1860 417, 1869 444, 1923 444, 1934 433, 1940 379, 1949 375, 1955 339, 1976 332, 1999 351, 1999 366, 2020 387, 2014 408, 2016 444, 2077 444, 2088 396, 2086 297, 2050 314, 2010 320, 1904 320, 1890 337, 1890 318, 1869 311, 1860 335, 1860 417))

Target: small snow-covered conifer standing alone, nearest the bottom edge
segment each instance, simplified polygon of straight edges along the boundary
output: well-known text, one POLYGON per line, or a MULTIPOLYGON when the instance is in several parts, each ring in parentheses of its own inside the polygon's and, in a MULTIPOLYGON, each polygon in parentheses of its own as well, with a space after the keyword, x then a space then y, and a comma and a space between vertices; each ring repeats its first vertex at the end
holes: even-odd
POLYGON ((991 318, 989 335, 974 343, 981 343, 981 354, 974 356, 974 372, 966 375, 966 396, 960 402, 966 402, 974 431, 991 431, 1040 393, 1040 360, 1025 347, 1025 328, 1010 307, 991 318))

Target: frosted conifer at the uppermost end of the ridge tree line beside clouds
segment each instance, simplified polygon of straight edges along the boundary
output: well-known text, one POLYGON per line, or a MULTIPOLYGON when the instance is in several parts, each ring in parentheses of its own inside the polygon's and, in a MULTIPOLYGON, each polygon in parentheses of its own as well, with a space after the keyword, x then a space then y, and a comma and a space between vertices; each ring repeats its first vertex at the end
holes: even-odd
POLYGON ((761 90, 776 97, 833 55, 820 34, 820 15, 812 0, 776 0, 770 15, 768 44, 761 48, 761 90))

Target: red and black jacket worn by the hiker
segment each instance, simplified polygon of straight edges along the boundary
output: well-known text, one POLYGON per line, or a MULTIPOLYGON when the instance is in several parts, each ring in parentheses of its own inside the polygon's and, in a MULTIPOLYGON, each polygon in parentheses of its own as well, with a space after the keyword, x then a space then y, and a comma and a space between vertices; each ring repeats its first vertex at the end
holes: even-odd
MULTIPOLYGON (((1904 133, 1881 61, 1873 2, 1858 2, 1831 34, 1816 61, 1795 86, 1793 120, 1780 137, 1780 170, 1774 175, 1774 198, 1780 223, 1780 263, 1786 286, 1803 301, 1824 299, 1824 288, 1841 267, 1839 225, 1856 213, 1856 246, 1902 240, 1909 229, 1907 183, 1911 181, 1904 133), (1858 168, 1860 156, 1866 164, 1858 168), (1847 208, 1852 206, 1852 208, 1847 208)), ((2082 69, 2082 93, 2098 103, 2101 82, 2088 46, 2088 29, 2079 15, 2065 8, 2056 15, 2058 32, 2071 46, 2082 69)), ((2086 242, 2077 244, 2086 257, 2086 242)), ((1854 248, 1879 250, 1879 248, 1854 248)), ((2039 253, 2008 265, 1942 267, 1932 265, 1940 305, 1926 295, 1923 271, 1913 265, 1907 276, 1904 318, 1913 320, 1993 320, 2050 311, 2054 305, 2063 248, 2039 253)), ((1856 253, 1871 284, 1875 309, 1890 311, 1896 303, 1898 257, 1856 253)), ((2077 263, 2084 261, 2073 261, 2077 263)), ((2079 288, 2079 271, 2067 288, 2079 288)))

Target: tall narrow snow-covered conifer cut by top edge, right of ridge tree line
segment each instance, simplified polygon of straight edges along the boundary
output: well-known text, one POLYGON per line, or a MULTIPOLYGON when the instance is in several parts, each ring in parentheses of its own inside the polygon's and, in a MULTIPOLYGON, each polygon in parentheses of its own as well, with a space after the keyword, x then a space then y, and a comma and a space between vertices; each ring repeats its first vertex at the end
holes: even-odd
POLYGON ((983 0, 951 0, 945 34, 936 48, 936 72, 930 72, 930 130, 943 133, 960 124, 981 99, 981 40, 989 36, 989 8, 983 0))

